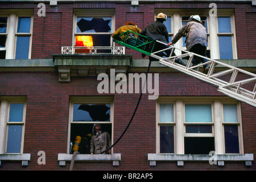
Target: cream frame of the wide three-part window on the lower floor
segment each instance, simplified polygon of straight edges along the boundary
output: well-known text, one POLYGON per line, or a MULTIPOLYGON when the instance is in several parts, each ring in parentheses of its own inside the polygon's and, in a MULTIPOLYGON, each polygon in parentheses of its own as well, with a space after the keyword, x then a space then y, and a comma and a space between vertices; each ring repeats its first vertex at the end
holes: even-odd
MULTIPOLYGON (((156 140, 156 154, 169 154, 160 153, 160 121, 159 121, 159 107, 160 104, 173 104, 174 103, 174 122, 164 123, 164 125, 171 124, 174 126, 174 155, 185 154, 185 137, 214 137, 214 148, 216 154, 229 155, 225 153, 225 136, 224 126, 225 124, 238 125, 238 142, 239 142, 239 154, 243 151, 243 133, 242 133, 242 114, 241 103, 237 100, 230 98, 219 97, 159 97, 156 102, 156 128, 157 128, 157 140, 156 140), (212 125, 212 134, 186 134, 186 122, 185 122, 185 104, 211 104, 212 122, 207 123, 212 125), (223 104, 237 104, 238 123, 224 123, 223 121, 223 104), (181 113, 181 114, 178 114, 181 113)), ((170 153, 171 154, 171 153, 170 153)), ((172 155, 172 154, 171 154, 172 155)))

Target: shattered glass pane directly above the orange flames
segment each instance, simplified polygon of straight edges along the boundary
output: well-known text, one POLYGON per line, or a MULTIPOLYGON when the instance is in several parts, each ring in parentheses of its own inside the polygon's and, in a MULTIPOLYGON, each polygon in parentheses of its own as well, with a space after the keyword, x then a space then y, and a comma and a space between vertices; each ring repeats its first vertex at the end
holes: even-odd
POLYGON ((111 18, 77 18, 77 33, 79 32, 111 32, 111 18))

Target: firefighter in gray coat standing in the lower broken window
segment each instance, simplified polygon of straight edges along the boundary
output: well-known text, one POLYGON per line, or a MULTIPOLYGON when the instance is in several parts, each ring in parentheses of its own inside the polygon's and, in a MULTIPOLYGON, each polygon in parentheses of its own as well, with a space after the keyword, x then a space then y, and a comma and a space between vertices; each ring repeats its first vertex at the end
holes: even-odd
MULTIPOLYGON (((93 137, 90 141, 90 153, 101 154, 107 148, 111 146, 110 134, 106 131, 102 131, 101 125, 95 124, 93 126, 93 137)), ((111 150, 106 151, 104 154, 111 154, 111 150)))

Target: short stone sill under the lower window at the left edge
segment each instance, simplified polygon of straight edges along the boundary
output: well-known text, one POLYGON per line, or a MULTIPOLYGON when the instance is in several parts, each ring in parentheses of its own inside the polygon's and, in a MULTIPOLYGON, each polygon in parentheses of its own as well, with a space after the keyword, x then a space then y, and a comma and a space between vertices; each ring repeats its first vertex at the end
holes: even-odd
POLYGON ((30 161, 30 154, 0 154, 1 161, 21 161, 22 166, 28 166, 30 161))

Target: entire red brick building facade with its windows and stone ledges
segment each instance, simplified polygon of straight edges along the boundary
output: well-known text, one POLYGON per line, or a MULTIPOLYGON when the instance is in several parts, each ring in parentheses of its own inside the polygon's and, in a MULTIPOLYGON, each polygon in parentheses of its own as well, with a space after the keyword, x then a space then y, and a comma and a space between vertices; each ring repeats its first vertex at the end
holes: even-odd
MULTIPOLYGON (((1 23, 7 27, 0 27, 1 41, 6 40, 0 47, 1 171, 69 170, 70 142, 74 142, 76 135, 85 137, 93 124, 99 122, 114 143, 126 129, 139 93, 99 93, 101 80, 97 80, 97 75, 110 75, 113 69, 124 71, 127 78, 129 73, 142 75, 147 72, 149 59, 132 49, 126 49, 125 55, 63 55, 61 48, 75 46, 75 36, 82 35, 75 28, 79 17, 110 17, 112 27, 106 34, 110 36, 127 21, 143 29, 154 21, 156 14, 163 12, 171 17, 169 35, 173 38, 185 17, 199 14, 206 17, 210 56, 256 72, 254 1, 216 1, 215 19, 209 15, 210 1, 45 2, 45 16, 38 15, 42 8, 38 3, 0 3, 1 23), (22 27, 22 18, 27 17, 31 18, 30 31, 19 32, 21 29, 16 28, 22 27), (229 18, 230 32, 214 29, 221 26, 221 18, 229 18), (19 37, 26 36, 27 57, 17 59, 19 37), (223 37, 230 38, 226 45, 231 47, 231 53, 222 52, 223 37), (222 57, 229 53, 231 57, 222 57), (109 120, 75 120, 79 110, 76 106, 81 104, 106 104, 109 120), (15 110, 19 114, 14 114, 15 110), (21 120, 15 120, 18 118, 21 120)), ((119 45, 110 39, 109 46, 119 45)), ((177 46, 182 47, 182 41, 177 46)), ((158 99, 149 100, 150 93, 143 94, 133 122, 111 154, 79 154, 73 170, 255 170, 254 106, 157 62, 152 63, 150 73, 159 74, 158 99), (187 120, 194 117, 196 121, 187 120), (195 133, 199 127, 207 131, 195 133), (217 163, 210 164, 209 151, 215 151, 213 159, 217 163)))

